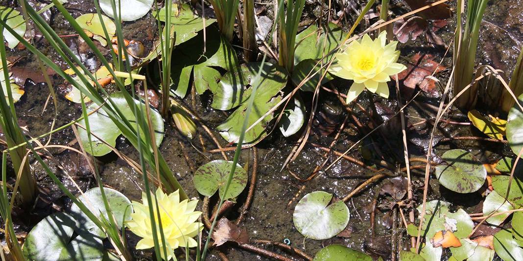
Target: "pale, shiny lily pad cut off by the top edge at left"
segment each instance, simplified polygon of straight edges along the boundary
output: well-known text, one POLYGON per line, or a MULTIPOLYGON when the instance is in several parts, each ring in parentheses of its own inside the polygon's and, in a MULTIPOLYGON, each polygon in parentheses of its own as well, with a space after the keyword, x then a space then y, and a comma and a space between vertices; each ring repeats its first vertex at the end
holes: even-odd
POLYGON ((133 21, 139 19, 149 13, 153 6, 153 0, 100 0, 100 8, 108 16, 115 18, 112 11, 112 5, 116 7, 116 11, 120 10, 119 16, 122 21, 133 21))

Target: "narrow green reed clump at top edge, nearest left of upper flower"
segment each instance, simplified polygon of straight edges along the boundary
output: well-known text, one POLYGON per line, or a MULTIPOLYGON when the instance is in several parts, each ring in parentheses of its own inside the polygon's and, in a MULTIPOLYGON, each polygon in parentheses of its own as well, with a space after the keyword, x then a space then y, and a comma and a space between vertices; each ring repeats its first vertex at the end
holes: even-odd
POLYGON ((305 6, 305 0, 288 0, 287 8, 283 8, 283 0, 278 3, 279 17, 279 64, 291 73, 294 67, 294 49, 298 24, 300 23, 301 13, 305 6), (286 11, 283 15, 283 11, 286 11))

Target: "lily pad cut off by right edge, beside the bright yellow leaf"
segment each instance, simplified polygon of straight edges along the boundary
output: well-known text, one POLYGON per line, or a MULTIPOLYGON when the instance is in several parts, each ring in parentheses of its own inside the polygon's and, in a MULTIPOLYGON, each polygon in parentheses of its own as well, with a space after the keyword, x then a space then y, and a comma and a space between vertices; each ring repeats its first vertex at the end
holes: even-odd
MULTIPOLYGON (((518 97, 518 103, 523 106, 523 94, 518 97)), ((508 145, 518 155, 523 149, 523 112, 517 104, 508 112, 506 132, 508 145)))

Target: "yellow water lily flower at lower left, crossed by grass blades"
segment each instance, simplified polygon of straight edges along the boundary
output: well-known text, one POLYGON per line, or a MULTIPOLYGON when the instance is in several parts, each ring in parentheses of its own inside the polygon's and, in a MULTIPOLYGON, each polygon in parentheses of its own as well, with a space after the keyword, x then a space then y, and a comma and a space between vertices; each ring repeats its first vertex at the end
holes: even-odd
MULTIPOLYGON (((153 206, 155 206, 154 195, 151 196, 153 206)), ((203 229, 203 224, 196 222, 201 212, 194 211, 198 200, 189 201, 186 199, 180 202, 178 191, 167 195, 163 193, 160 188, 156 191, 156 198, 158 200, 160 220, 162 221, 165 236, 165 245, 163 245, 160 230, 158 229, 158 215, 156 208, 154 208, 154 219, 156 222, 158 241, 160 243, 160 253, 162 253, 162 258, 165 260, 170 260, 171 258, 176 260, 176 256, 174 255, 176 248, 186 246, 195 247, 198 245, 196 240, 193 239, 198 235, 198 232, 203 229), (167 256, 164 256, 164 248, 167 256)), ((131 220, 127 223, 127 227, 131 232, 142 238, 136 245, 136 249, 154 247, 151 216, 149 215, 149 204, 147 204, 145 193, 142 193, 142 202, 143 204, 137 201, 132 202, 134 212, 131 214, 131 220)))

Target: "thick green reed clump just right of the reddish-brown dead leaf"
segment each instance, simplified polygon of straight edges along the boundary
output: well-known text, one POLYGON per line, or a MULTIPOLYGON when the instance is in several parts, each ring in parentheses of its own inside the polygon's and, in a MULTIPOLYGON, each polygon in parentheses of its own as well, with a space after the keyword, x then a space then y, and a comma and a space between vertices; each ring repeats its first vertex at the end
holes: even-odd
MULTIPOLYGON (((481 20, 487 5, 487 0, 467 1, 467 16, 464 15, 464 0, 458 0, 456 35, 454 35, 454 77, 453 93, 457 96, 465 87, 472 83, 474 77, 477 41, 479 38, 481 20), (464 18, 464 23, 462 22, 464 18)), ((477 101, 477 85, 471 86, 456 100, 456 105, 464 110, 473 108, 477 101)))

